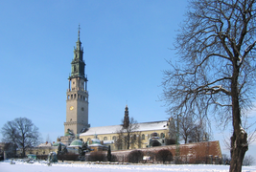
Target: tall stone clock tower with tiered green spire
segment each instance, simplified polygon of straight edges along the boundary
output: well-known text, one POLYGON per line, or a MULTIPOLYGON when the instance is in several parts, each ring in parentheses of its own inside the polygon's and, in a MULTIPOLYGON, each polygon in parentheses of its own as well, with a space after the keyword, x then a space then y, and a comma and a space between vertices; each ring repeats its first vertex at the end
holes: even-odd
POLYGON ((80 29, 79 26, 78 41, 74 47, 74 59, 71 62, 71 75, 68 77, 66 122, 64 122, 64 133, 69 132, 73 135, 90 127, 88 124, 88 79, 87 75, 84 75, 85 63, 82 59, 80 29))

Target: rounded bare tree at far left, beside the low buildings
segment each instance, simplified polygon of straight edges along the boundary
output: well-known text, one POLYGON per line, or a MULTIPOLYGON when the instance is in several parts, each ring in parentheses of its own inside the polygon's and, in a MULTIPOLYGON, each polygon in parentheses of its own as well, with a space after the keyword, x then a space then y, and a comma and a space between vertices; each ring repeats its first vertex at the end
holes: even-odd
POLYGON ((25 156, 26 149, 40 142, 38 128, 29 118, 15 118, 8 121, 1 130, 3 141, 12 142, 25 156))

